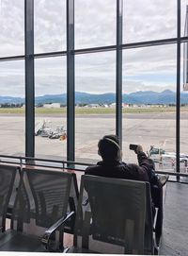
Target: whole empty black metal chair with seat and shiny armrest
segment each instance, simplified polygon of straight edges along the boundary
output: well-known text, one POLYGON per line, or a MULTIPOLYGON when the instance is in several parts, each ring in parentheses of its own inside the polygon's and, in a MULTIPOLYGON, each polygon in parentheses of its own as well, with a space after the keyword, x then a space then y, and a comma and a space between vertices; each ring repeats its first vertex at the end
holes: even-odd
POLYGON ((72 174, 23 169, 10 229, 0 235, 2 251, 63 251, 72 174))

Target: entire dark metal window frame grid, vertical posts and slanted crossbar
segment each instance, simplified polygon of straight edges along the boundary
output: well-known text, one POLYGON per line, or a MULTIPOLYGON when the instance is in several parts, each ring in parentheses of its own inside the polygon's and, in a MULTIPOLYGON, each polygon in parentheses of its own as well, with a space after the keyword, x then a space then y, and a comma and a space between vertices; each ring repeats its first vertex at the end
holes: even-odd
MULTIPOLYGON (((68 142, 67 160, 75 158, 75 55, 116 51, 116 133, 122 143, 122 50, 165 44, 177 45, 177 106, 176 106, 176 168, 180 172, 180 43, 188 37, 180 37, 180 0, 177 0, 177 37, 139 43, 122 42, 122 5, 117 0, 117 43, 101 47, 74 49, 74 0, 67 1, 67 51, 34 53, 34 0, 24 0, 24 55, 0 58, 0 61, 24 60, 25 62, 25 156, 35 157, 35 70, 34 60, 67 56, 68 142)), ((179 180, 179 176, 178 176, 179 180)))

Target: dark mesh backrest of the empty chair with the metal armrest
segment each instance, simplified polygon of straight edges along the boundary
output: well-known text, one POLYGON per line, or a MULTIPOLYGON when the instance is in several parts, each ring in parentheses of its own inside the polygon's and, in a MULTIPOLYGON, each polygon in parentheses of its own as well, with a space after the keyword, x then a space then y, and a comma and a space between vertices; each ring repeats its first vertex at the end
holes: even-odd
POLYGON ((24 168, 13 208, 11 229, 40 236, 66 215, 71 179, 70 173, 24 168))

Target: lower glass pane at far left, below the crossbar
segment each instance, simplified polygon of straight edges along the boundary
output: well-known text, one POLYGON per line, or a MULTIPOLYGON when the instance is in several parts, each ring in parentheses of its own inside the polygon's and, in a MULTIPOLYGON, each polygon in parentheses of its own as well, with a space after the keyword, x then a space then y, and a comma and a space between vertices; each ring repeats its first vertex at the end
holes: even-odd
POLYGON ((0 153, 24 155, 24 61, 0 62, 0 153))

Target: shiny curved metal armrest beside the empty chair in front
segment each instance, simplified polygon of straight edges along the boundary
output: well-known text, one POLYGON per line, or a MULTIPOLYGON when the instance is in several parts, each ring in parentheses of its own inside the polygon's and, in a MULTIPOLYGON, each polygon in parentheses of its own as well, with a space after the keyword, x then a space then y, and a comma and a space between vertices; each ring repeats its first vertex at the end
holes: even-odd
POLYGON ((43 236, 41 238, 41 243, 43 244, 43 246, 46 249, 49 249, 50 237, 54 233, 54 231, 57 230, 61 225, 63 225, 69 218, 71 218, 71 216, 73 214, 74 214, 74 212, 71 212, 71 213, 67 214, 66 216, 60 218, 59 220, 57 220, 55 222, 55 224, 53 224, 53 226, 51 226, 48 230, 45 231, 45 233, 43 234, 43 236))

